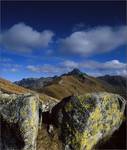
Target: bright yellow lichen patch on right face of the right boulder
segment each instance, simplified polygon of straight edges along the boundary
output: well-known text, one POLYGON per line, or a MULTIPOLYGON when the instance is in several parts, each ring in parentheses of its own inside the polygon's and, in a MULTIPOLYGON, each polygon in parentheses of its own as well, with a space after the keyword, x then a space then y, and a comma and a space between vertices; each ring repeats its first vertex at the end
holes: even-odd
MULTIPOLYGON (((110 95, 104 95, 102 100, 102 106, 97 107, 90 115, 88 122, 89 129, 85 129, 81 138, 81 147, 85 150, 91 150, 94 145, 97 144, 100 138, 102 138, 102 131, 105 132, 105 136, 108 136, 117 124, 120 124, 121 118, 123 116, 122 112, 118 109, 118 103, 113 101, 111 103, 112 97, 110 95), (108 109, 104 114, 102 114, 101 109, 108 109), (104 116, 106 117, 106 122, 104 121, 104 116)), ((104 138, 104 137, 103 137, 104 138)))

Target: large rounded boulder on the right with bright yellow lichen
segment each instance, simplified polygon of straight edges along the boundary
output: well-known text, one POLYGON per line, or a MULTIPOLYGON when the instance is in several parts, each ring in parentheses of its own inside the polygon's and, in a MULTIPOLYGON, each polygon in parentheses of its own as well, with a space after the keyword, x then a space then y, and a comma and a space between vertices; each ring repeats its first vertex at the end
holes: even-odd
POLYGON ((124 109, 124 99, 116 94, 71 96, 53 108, 52 122, 65 150, 91 150, 119 128, 124 109))

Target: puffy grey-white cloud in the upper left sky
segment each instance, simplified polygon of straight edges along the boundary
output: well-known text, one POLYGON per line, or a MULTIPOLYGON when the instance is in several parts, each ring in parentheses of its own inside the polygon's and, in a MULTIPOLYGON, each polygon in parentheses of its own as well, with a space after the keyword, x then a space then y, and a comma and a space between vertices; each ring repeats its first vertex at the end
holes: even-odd
POLYGON ((24 23, 18 23, 1 33, 0 43, 9 50, 28 52, 47 47, 54 33, 49 30, 38 32, 24 23))

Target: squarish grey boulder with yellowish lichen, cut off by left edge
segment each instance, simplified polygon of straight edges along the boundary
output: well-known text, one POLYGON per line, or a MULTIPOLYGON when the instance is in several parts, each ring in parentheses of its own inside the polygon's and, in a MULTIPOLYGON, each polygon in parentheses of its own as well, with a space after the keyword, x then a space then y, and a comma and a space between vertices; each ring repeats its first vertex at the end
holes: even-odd
POLYGON ((5 131, 1 131, 2 149, 36 149, 39 120, 38 104, 38 97, 32 94, 0 94, 1 124, 2 128, 6 130, 6 134, 5 131), (5 123, 8 125, 5 125, 5 123), (6 127, 10 128, 10 131, 6 127), (14 130, 12 136, 18 134, 16 135, 18 142, 10 137, 11 130, 14 130), (19 141, 22 141, 22 145, 19 141))

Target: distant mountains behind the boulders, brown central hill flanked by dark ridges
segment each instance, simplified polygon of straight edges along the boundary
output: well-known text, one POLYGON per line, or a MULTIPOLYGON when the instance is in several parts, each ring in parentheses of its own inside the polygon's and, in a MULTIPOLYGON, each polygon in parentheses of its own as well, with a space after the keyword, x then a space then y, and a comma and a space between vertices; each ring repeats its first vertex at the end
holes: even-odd
POLYGON ((62 99, 70 95, 107 91, 126 95, 126 79, 121 76, 92 77, 75 68, 61 76, 26 78, 15 84, 62 99))

